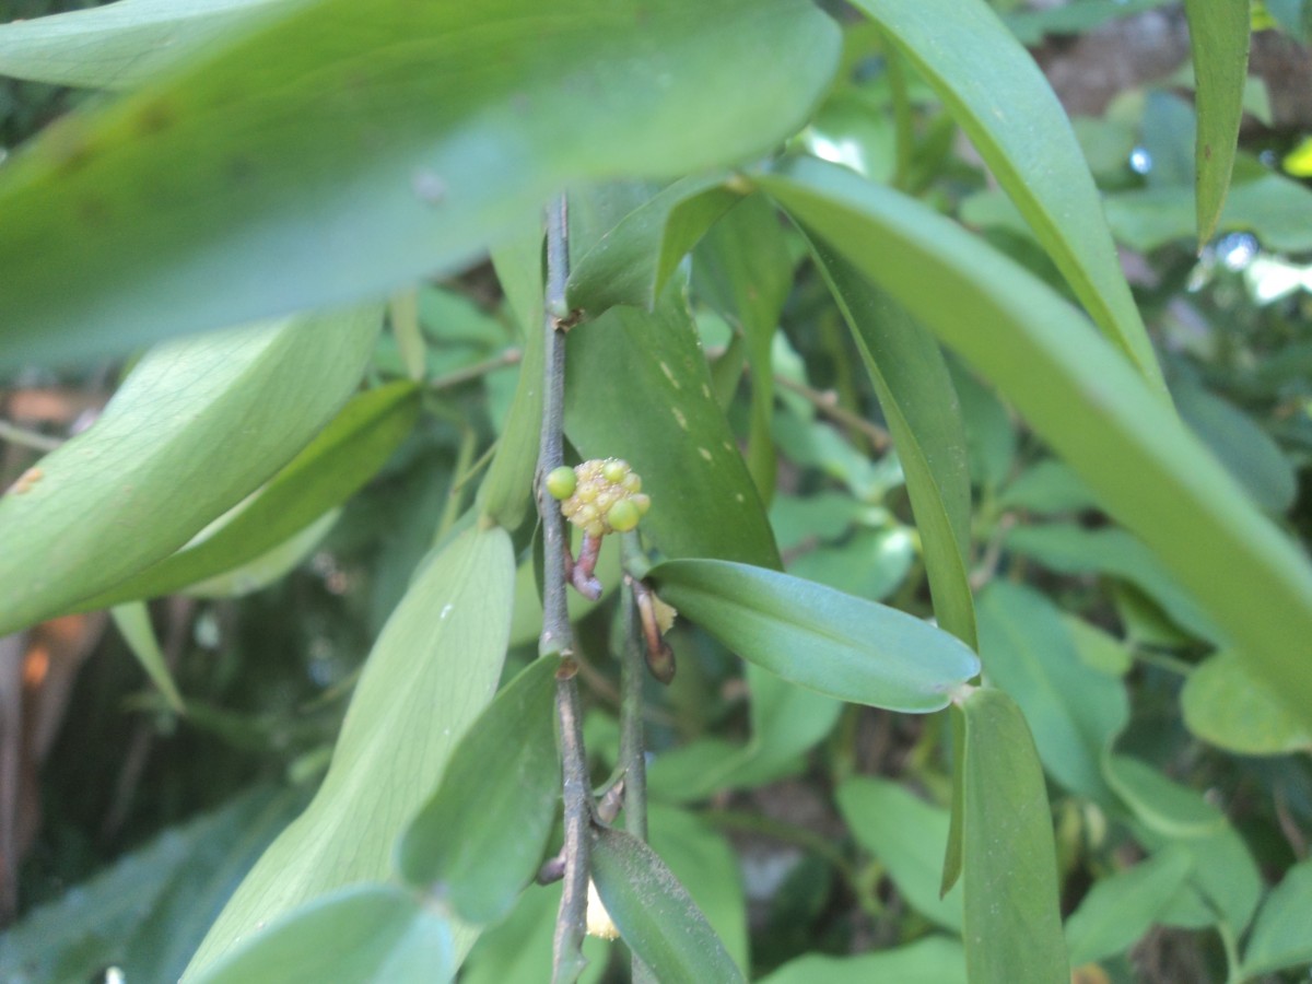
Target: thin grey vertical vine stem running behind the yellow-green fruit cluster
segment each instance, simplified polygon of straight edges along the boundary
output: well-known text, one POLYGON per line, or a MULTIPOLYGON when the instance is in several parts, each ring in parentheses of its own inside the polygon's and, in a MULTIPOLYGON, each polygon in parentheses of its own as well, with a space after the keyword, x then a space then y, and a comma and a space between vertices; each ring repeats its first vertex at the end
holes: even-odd
POLYGON ((573 632, 565 606, 565 530, 560 506, 543 478, 562 464, 565 398, 565 331, 569 278, 569 240, 565 198, 547 209, 547 283, 543 306, 546 342, 542 387, 542 434, 538 447, 538 516, 542 520, 542 636, 538 653, 559 657, 556 672, 556 718, 560 735, 562 790, 564 798, 564 882, 552 938, 551 980, 571 984, 586 963, 583 939, 588 920, 588 846, 592 828, 592 789, 588 753, 583 744, 583 712, 579 664, 573 659, 573 632))

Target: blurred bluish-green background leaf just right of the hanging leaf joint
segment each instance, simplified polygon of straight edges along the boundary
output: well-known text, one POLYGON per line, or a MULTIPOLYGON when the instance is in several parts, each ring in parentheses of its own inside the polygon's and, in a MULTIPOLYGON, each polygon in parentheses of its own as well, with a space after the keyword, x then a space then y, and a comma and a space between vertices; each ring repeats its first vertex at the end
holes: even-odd
POLYGON ((1113 804, 1102 757, 1130 722, 1122 682, 1080 659, 1061 613, 1030 588, 994 581, 980 596, 979 617, 984 672, 1021 706, 1044 769, 1067 789, 1113 804))

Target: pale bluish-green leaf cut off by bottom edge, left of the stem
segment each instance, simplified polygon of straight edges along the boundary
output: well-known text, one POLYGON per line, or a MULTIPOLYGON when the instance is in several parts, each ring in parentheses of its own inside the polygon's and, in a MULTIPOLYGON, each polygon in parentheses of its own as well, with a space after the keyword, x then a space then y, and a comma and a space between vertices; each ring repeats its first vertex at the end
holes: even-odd
POLYGON ((428 984, 455 976, 454 950, 446 917, 395 886, 359 884, 299 907, 190 980, 428 984))

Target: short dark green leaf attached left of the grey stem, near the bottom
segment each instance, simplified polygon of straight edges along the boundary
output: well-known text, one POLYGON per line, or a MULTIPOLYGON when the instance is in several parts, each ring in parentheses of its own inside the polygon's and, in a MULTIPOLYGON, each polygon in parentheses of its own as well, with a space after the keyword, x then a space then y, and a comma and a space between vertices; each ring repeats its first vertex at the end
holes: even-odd
POLYGON ((496 922, 533 878, 560 798, 555 743, 559 661, 530 664, 479 715, 398 845, 416 888, 468 922, 496 922))

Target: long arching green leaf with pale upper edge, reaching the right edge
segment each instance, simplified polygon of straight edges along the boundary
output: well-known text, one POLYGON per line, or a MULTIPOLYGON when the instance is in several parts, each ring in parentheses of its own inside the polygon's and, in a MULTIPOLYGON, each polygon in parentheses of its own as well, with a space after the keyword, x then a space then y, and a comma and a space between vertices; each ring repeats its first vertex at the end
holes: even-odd
POLYGON ((795 161, 757 181, 988 377, 1312 720, 1307 558, 1078 314, 947 219, 842 168, 795 161))

